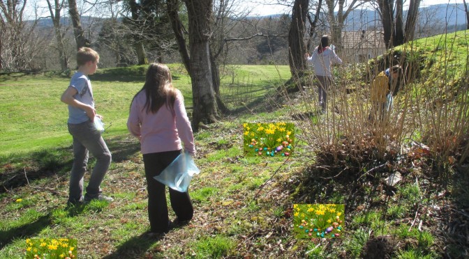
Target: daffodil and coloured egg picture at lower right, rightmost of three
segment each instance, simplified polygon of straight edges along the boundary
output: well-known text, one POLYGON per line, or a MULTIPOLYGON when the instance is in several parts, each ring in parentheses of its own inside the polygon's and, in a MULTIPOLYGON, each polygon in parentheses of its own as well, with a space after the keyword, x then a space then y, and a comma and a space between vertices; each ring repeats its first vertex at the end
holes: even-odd
POLYGON ((337 238, 343 235, 343 204, 293 205, 293 232, 297 238, 337 238))

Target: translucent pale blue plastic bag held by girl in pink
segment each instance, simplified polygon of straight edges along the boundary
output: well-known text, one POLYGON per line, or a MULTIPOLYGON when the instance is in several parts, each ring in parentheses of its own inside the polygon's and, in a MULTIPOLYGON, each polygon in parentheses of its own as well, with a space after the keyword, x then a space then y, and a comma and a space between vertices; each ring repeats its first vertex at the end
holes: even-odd
POLYGON ((199 173, 200 170, 195 166, 191 155, 184 152, 177 156, 163 172, 154 176, 154 179, 163 185, 168 185, 171 189, 186 192, 193 175, 199 173))

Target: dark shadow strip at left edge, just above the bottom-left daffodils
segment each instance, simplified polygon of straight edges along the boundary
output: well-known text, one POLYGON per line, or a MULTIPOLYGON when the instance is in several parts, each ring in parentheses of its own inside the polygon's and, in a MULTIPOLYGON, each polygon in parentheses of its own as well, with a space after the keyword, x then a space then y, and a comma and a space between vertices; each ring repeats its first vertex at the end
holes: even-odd
POLYGON ((51 223, 52 219, 50 214, 48 214, 39 217, 36 221, 24 224, 23 226, 18 226, 9 230, 0 230, 0 250, 15 239, 36 235, 47 226, 50 226, 51 223))

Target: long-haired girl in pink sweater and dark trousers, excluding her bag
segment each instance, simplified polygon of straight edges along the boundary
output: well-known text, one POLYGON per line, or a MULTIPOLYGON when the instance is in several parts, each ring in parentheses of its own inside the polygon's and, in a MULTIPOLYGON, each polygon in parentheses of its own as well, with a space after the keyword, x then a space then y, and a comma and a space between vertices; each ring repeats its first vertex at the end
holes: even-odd
MULTIPOLYGON (((148 217, 151 234, 168 233, 170 220, 165 185, 154 179, 184 150, 195 155, 191 123, 184 107, 184 97, 172 86, 168 66, 149 65, 145 84, 134 97, 127 120, 128 131, 140 140, 147 178, 148 217)), ((190 221, 193 207, 188 191, 170 189, 170 202, 176 221, 190 221)))

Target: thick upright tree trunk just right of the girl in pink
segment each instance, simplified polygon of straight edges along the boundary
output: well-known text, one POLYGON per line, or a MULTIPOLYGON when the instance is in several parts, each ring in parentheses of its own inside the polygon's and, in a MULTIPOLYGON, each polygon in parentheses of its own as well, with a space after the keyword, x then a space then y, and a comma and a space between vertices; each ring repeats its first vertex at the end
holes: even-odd
POLYGON ((214 123, 218 116, 211 71, 209 38, 211 36, 211 0, 185 0, 191 42, 191 79, 193 129, 200 123, 214 123))

